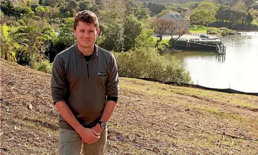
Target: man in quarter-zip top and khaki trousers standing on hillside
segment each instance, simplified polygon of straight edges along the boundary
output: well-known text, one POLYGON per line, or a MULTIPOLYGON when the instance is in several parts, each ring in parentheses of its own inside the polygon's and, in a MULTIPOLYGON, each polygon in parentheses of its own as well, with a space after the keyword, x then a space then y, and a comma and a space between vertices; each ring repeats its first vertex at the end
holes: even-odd
POLYGON ((118 98, 118 74, 112 53, 95 45, 97 16, 76 14, 77 44, 56 55, 51 77, 52 98, 59 115, 59 155, 103 154, 107 121, 118 98))

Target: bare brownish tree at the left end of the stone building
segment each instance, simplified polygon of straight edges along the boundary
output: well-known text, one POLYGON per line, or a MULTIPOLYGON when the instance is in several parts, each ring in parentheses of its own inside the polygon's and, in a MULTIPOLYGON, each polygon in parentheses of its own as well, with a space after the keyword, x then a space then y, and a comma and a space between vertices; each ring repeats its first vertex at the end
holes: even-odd
POLYGON ((172 20, 159 20, 155 19, 154 22, 156 23, 157 32, 159 33, 159 39, 162 40, 162 35, 165 31, 167 31, 170 27, 172 27, 172 20))

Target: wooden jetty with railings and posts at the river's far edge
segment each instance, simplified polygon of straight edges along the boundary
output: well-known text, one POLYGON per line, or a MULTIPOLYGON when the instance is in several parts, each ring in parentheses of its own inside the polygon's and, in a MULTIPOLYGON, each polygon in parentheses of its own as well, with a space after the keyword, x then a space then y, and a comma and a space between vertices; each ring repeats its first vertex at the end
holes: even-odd
MULTIPOLYGON (((177 41, 185 42, 186 48, 191 49, 193 45, 201 47, 212 47, 218 54, 226 54, 226 47, 219 38, 197 38, 197 39, 178 39, 177 41)), ((184 44, 185 45, 185 44, 184 44)))

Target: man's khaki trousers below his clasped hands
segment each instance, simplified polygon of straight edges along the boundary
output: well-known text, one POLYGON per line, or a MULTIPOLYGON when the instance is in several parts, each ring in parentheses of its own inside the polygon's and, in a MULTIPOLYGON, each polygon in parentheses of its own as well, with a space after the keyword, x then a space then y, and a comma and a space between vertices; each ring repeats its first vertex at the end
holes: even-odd
MULTIPOLYGON (((73 130, 59 129, 58 155, 79 155, 82 148, 82 138, 73 130)), ((84 155, 103 155, 107 141, 107 128, 103 129, 100 138, 92 143, 83 143, 84 155)))

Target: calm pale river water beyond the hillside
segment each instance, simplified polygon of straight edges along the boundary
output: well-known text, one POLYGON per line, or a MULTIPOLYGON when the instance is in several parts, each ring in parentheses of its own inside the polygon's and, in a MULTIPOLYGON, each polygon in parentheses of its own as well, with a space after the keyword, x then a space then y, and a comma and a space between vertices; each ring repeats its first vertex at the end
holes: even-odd
POLYGON ((258 92, 258 32, 221 37, 226 54, 214 52, 171 52, 182 60, 194 84, 258 92))

